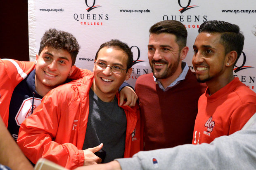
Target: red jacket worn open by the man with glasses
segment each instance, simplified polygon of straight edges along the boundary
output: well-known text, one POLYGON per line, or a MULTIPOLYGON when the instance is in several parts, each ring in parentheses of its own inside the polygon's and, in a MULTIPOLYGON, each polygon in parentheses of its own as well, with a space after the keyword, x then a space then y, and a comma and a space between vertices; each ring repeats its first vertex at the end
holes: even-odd
MULTIPOLYGON (((90 75, 53 89, 21 124, 17 143, 33 163, 43 157, 69 169, 83 165, 92 82, 90 75)), ((124 157, 131 157, 142 146, 140 112, 137 106, 122 108, 127 119, 124 157)))

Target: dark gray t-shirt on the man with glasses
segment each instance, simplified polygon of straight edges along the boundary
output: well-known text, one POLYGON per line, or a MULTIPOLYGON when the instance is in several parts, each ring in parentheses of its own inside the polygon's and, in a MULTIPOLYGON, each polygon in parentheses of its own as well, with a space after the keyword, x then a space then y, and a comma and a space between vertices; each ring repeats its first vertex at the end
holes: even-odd
MULTIPOLYGON (((118 106, 117 98, 113 102, 103 102, 90 89, 89 116, 83 150, 103 143, 106 151, 104 163, 115 158, 123 158, 126 138, 126 114, 118 106)), ((103 162, 102 162, 103 163, 103 162)))

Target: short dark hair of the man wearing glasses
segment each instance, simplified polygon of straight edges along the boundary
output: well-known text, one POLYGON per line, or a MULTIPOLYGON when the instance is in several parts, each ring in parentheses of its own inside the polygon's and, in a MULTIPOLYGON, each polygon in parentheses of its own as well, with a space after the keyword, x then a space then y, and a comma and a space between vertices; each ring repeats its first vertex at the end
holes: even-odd
POLYGON ((95 60, 97 60, 99 51, 104 47, 111 47, 113 49, 123 50, 123 52, 125 54, 127 54, 127 56, 128 56, 126 72, 128 71, 129 68, 132 67, 132 65, 133 65, 133 52, 130 50, 129 46, 126 43, 121 42, 120 40, 116 40, 116 39, 108 41, 108 42, 104 42, 103 44, 100 45, 100 48, 98 49, 98 51, 95 55, 95 60))

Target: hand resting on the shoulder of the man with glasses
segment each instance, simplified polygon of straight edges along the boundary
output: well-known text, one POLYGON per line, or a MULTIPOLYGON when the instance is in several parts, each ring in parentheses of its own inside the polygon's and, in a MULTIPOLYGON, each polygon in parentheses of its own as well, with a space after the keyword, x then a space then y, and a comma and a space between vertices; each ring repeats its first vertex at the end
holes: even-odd
POLYGON ((133 88, 129 86, 125 86, 124 88, 122 88, 122 90, 120 91, 120 106, 123 105, 123 101, 125 99, 126 103, 124 104, 124 106, 135 106, 138 96, 136 95, 135 91, 133 91, 133 88))

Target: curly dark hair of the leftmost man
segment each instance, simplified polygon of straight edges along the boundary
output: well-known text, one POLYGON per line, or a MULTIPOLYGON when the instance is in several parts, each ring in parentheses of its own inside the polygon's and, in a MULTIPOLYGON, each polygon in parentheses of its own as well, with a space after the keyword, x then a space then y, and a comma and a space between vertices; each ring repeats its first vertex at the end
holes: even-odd
POLYGON ((76 56, 80 47, 76 41, 76 38, 71 33, 56 30, 55 28, 45 31, 40 42, 40 49, 38 52, 39 56, 43 49, 47 46, 68 51, 71 55, 72 65, 75 64, 76 56))

